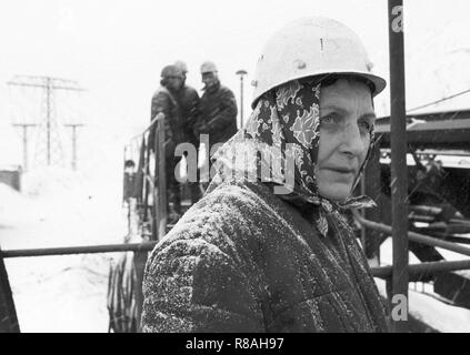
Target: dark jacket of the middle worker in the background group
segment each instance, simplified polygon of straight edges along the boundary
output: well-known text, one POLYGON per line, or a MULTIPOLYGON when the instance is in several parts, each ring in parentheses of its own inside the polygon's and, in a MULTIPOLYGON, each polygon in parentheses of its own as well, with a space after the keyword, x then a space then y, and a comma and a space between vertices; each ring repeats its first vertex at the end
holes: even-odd
POLYGON ((199 136, 194 134, 194 125, 200 115, 200 99, 198 92, 188 85, 176 93, 180 108, 182 131, 186 142, 199 145, 199 136))

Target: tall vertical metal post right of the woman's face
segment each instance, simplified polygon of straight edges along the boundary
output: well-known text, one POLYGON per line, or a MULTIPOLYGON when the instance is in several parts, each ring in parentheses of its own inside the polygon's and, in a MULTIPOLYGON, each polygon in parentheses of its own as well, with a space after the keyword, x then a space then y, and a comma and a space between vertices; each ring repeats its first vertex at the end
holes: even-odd
MULTIPOLYGON (((408 300, 408 182, 407 182, 407 121, 404 100, 404 45, 402 21, 403 1, 389 0, 390 51, 390 141, 391 200, 393 240, 393 295, 408 300), (401 20, 401 21, 400 21, 401 20)), ((408 332, 407 321, 393 321, 397 333, 408 332)))

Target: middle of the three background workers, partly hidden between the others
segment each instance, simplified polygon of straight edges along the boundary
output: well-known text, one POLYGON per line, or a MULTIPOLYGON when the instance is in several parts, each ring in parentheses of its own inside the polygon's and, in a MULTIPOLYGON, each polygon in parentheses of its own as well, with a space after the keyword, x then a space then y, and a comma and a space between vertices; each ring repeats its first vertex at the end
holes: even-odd
MULTIPOLYGON (((199 135, 194 134, 196 123, 200 115, 200 99, 196 89, 187 85, 186 79, 188 73, 187 64, 178 60, 174 62, 174 65, 179 68, 183 75, 183 82, 179 90, 176 91, 176 100, 180 108, 181 120, 182 120, 182 132, 184 134, 184 140, 188 143, 194 145, 196 150, 199 149, 199 135)), ((196 203, 200 199, 200 189, 199 183, 188 182, 189 192, 191 196, 191 203, 196 203)))

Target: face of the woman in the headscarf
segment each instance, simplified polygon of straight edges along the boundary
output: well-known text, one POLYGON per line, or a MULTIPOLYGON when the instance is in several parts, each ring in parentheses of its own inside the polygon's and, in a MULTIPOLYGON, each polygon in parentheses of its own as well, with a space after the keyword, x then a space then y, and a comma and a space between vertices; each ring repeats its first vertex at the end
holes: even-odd
POLYGON ((321 88, 320 142, 316 165, 320 195, 342 202, 366 160, 376 114, 364 83, 339 79, 321 88))

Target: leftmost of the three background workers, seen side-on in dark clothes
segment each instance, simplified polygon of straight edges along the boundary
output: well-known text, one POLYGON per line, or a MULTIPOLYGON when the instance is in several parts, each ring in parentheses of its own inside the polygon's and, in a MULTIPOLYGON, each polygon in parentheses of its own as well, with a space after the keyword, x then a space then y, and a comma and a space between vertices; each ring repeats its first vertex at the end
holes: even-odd
MULTIPOLYGON (((169 222, 176 222, 181 216, 180 185, 174 178, 174 169, 180 156, 174 156, 178 144, 186 142, 181 109, 177 101, 177 93, 183 85, 182 71, 177 65, 166 65, 161 71, 160 88, 154 92, 151 101, 151 121, 159 113, 164 115, 164 153, 167 173, 167 202, 169 222)), ((156 150, 156 129, 153 124, 149 133, 150 150, 156 150)))

